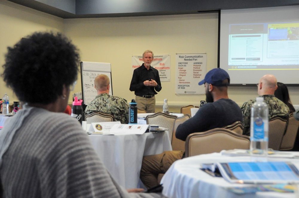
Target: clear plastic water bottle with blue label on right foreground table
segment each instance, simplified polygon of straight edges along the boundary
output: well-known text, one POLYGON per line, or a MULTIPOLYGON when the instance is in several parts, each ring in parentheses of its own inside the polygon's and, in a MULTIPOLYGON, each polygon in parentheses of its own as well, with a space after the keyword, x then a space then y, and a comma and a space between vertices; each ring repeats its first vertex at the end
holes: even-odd
POLYGON ((264 98, 257 97, 251 107, 250 154, 251 161, 267 161, 268 154, 268 105, 264 98))

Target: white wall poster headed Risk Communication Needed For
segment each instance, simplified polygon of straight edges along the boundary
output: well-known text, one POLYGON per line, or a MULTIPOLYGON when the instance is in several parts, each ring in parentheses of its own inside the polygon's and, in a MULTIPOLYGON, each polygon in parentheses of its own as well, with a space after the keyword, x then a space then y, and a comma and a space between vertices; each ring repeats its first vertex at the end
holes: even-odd
POLYGON ((207 73, 207 54, 176 54, 176 94, 205 94, 199 81, 207 73))

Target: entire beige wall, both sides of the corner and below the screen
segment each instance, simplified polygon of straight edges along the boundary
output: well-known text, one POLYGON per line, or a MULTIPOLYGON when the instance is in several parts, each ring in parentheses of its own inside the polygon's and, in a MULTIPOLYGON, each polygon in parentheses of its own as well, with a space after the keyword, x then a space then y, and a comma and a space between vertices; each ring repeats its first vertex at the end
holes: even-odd
MULTIPOLYGON (((123 18, 62 19, 27 7, 0 0, 0 64, 4 64, 6 47, 34 31, 62 31, 81 51, 82 61, 107 62, 112 66, 113 94, 130 101, 132 55, 151 49, 156 55, 170 54, 171 80, 162 82, 156 96, 157 106, 164 98, 170 106, 199 105, 205 95, 175 95, 176 53, 207 53, 207 70, 217 67, 218 14, 145 16, 123 18)), ((0 72, 2 72, 2 67, 0 72)), ((299 83, 299 82, 298 82, 299 83)), ((0 96, 7 92, 0 80, 0 96)), ((80 78, 74 92, 81 91, 80 78)), ((298 87, 289 87, 292 103, 299 104, 298 87)), ((239 106, 257 96, 256 87, 229 87, 229 97, 239 106)), ((71 98, 69 100, 71 103, 71 98)))

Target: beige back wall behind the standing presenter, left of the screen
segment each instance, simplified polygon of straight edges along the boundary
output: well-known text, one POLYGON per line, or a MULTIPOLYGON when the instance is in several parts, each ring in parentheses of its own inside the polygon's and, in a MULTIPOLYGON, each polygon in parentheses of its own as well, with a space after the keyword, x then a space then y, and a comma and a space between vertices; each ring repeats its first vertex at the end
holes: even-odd
MULTIPOLYGON (((217 66, 218 14, 66 19, 65 34, 82 52, 82 61, 111 63, 113 94, 130 101, 132 55, 146 49, 170 54, 170 82, 161 82, 157 105, 199 104, 205 96, 175 95, 176 53, 207 53, 208 69, 217 66)), ((80 91, 76 87, 75 91, 80 91)))

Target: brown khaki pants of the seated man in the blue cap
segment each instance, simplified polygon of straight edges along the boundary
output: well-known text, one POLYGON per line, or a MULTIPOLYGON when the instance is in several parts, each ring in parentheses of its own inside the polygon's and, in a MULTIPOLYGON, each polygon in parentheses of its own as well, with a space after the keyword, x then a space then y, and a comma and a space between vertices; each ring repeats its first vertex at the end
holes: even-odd
POLYGON ((166 173, 174 161, 182 159, 184 151, 164 151, 157 155, 143 156, 140 179, 147 188, 158 183, 158 174, 166 173))

